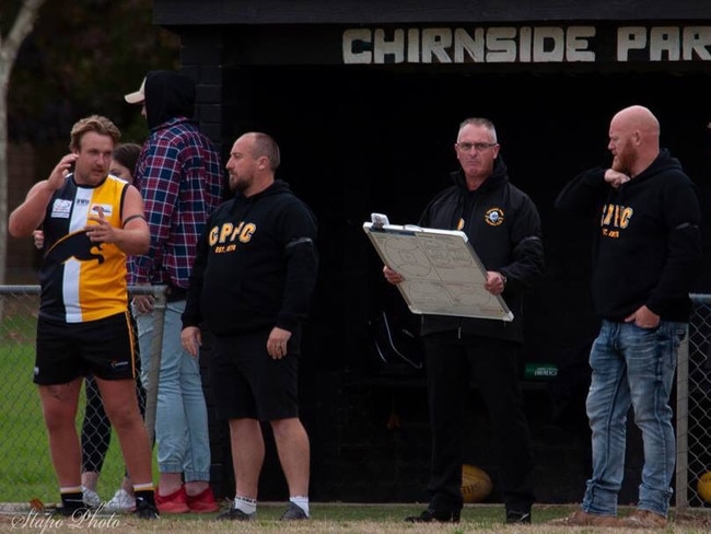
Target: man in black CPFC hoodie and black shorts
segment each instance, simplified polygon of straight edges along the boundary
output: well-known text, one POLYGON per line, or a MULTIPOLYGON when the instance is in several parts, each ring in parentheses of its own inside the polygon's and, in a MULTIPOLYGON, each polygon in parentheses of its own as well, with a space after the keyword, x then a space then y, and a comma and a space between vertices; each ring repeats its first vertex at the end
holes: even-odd
POLYGON ((317 223, 275 178, 279 162, 271 136, 253 131, 234 142, 228 171, 235 196, 210 216, 183 313, 185 350, 198 352, 201 325, 213 335, 210 386, 218 416, 230 425, 235 498, 219 521, 256 518, 260 422, 271 426, 289 487, 281 520, 308 518, 310 443, 299 419, 298 372, 318 275, 317 223))

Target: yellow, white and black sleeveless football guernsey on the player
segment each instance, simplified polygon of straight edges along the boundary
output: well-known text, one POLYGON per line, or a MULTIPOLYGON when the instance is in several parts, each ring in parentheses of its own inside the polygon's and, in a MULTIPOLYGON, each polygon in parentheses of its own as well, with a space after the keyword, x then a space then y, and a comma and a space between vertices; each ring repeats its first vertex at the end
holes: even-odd
POLYGON ((39 270, 39 315, 83 323, 126 312, 126 254, 113 243, 92 243, 84 231, 97 206, 112 227, 121 228, 128 183, 108 175, 97 186, 78 185, 73 174, 47 205, 45 257, 39 270))

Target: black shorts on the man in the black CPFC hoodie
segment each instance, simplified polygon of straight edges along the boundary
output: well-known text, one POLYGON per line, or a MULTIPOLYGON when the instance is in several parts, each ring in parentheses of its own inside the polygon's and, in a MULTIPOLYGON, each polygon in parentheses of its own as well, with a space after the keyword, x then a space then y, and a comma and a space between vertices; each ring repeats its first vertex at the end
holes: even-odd
POLYGON ((281 360, 272 359, 267 352, 269 332, 212 336, 210 388, 220 419, 299 416, 299 357, 288 351, 281 360))

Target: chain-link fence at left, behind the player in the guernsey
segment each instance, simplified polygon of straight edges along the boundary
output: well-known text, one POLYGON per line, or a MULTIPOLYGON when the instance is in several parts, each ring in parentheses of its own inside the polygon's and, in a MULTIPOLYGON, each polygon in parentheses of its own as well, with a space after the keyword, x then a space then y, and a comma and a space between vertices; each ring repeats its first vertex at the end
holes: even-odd
MULTIPOLYGON (((153 439, 165 286, 131 287, 129 291, 131 294, 152 294, 155 299, 158 321, 151 344, 155 356, 151 358, 145 388, 141 388, 145 396, 145 426, 153 439)), ((39 394, 33 383, 38 309, 39 286, 0 286, 0 502, 58 499, 39 394)), ((84 432, 94 436, 86 452, 100 472, 97 492, 102 500, 108 500, 120 488, 125 464, 118 438, 105 416, 102 417, 103 410, 95 414, 95 403, 88 402, 88 396, 91 398, 97 394, 88 384, 85 381, 85 387, 82 387, 77 429, 81 436, 82 426, 85 426, 84 432)), ((137 392, 138 386, 139 382, 137 392)), ((158 480, 156 472, 154 479, 158 480)))

